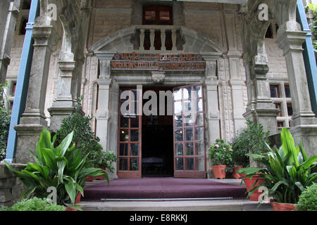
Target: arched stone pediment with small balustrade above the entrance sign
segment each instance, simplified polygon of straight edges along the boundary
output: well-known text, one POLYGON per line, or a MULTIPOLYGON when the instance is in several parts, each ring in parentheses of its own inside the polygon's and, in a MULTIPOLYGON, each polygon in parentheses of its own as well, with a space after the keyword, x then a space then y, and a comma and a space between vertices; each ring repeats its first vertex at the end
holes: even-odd
POLYGON ((219 44, 187 27, 173 25, 133 25, 118 30, 94 44, 92 51, 101 60, 111 60, 115 53, 197 53, 218 58, 225 53, 219 44))

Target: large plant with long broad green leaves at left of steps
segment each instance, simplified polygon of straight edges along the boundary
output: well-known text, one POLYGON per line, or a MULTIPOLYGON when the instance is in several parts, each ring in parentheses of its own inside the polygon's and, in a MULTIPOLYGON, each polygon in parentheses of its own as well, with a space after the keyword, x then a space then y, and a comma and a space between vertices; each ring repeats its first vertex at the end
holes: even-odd
POLYGON ((58 205, 75 205, 78 192, 84 195, 83 187, 87 176, 104 176, 109 182, 104 169, 91 167, 91 163, 87 161, 88 155, 82 156, 82 151, 76 148, 75 143, 70 146, 73 135, 74 132, 68 134, 55 148, 56 135, 51 141, 51 134, 43 129, 35 154, 30 151, 35 163, 28 162, 26 168, 19 172, 5 162, 8 169, 11 169, 27 188, 23 198, 30 198, 32 194, 46 198, 49 195, 47 189, 55 187, 58 205))

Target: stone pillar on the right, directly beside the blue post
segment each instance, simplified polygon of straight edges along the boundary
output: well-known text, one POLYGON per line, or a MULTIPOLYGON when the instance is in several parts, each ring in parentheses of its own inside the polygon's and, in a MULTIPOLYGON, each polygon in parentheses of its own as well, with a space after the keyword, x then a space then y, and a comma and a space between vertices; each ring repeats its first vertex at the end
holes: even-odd
POLYGON ((294 140, 302 141, 309 155, 317 153, 317 119, 311 109, 302 44, 306 32, 297 22, 287 21, 278 30, 278 46, 283 50, 292 95, 292 127, 294 140))

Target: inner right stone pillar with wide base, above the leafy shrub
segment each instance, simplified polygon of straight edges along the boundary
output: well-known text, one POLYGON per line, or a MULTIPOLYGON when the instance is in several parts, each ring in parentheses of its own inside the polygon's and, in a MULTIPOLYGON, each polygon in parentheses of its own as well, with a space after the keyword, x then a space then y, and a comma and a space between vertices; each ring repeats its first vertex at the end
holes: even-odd
POLYGON ((244 117, 254 123, 263 124, 264 131, 270 134, 278 133, 276 117, 280 110, 275 108, 271 99, 268 83, 268 65, 266 55, 255 56, 254 60, 244 58, 244 67, 247 75, 248 107, 244 117))

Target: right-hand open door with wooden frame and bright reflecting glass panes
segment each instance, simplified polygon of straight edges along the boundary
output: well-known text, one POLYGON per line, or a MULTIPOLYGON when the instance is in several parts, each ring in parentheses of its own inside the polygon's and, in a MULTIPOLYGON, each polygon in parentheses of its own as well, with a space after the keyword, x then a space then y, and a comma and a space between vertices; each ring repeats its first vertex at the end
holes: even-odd
POLYGON ((206 177, 203 93, 201 84, 173 90, 175 177, 206 177))

